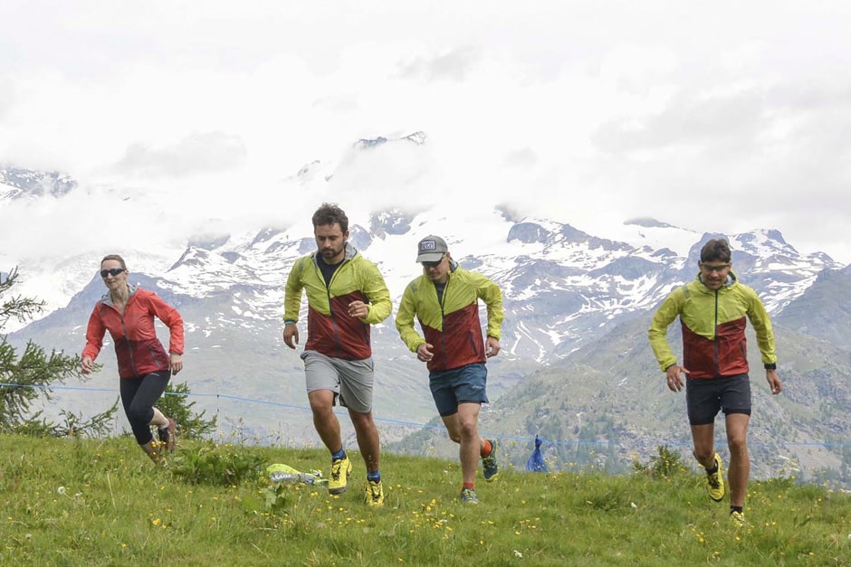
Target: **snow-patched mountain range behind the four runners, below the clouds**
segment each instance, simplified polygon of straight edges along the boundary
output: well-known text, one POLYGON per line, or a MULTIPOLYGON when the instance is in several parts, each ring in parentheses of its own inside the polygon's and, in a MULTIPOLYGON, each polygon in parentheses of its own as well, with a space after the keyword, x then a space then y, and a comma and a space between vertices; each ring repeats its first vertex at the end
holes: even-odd
MULTIPOLYGON (((356 160, 359 152, 376 146, 424 143, 420 134, 360 140, 347 159, 356 160)), ((333 164, 313 162, 294 175, 292 183, 315 187, 336 171, 333 164)), ((0 182, 0 207, 20 199, 51 199, 50 206, 62 207, 69 195, 81 190, 67 176, 21 169, 0 169, 0 182)), ((347 203, 339 204, 347 209, 347 203)), ((362 203, 355 209, 362 209, 362 203)), ((825 274, 842 268, 824 253, 799 253, 779 231, 769 229, 703 234, 643 218, 626 220, 614 227, 617 238, 607 238, 579 231, 563 219, 517 217, 500 205, 367 210, 358 216, 349 213, 349 240, 378 264, 396 303, 407 281, 419 273, 416 242, 427 234, 443 236, 464 268, 483 272, 502 288, 503 353, 491 364, 492 399, 510 395, 531 373, 559 365, 571 353, 588 352, 612 329, 647 317, 671 289, 693 279, 700 247, 709 238, 726 236, 731 241, 734 269, 757 290, 773 316, 794 306, 817 280, 826 279, 825 274)), ((38 257, 16 255, 14 242, 4 242, 0 260, 10 265, 0 269, 18 265, 23 281, 16 291, 47 302, 42 320, 5 332, 17 330, 19 340, 34 337, 48 348, 79 352, 91 306, 102 293, 96 274, 100 257, 118 251, 129 263, 131 281, 157 289, 184 315, 188 350, 182 376, 191 380, 193 391, 303 405, 301 361, 280 338, 283 286, 293 261, 315 244, 309 217, 281 224, 232 228, 211 219, 184 241, 80 250, 62 257, 49 247, 38 257)), ((644 342, 645 337, 639 334, 635 341, 644 342)), ((374 346, 377 415, 400 421, 434 417, 425 370, 398 340, 392 318, 376 329, 374 346)), ((107 372, 96 381, 111 383, 109 359, 101 356, 107 372)), ((649 361, 647 367, 653 364, 649 361)), ((502 406, 508 403, 500 401, 502 406)), ((257 420, 292 427, 292 415, 282 417, 280 410, 252 407, 231 414, 241 427, 253 430, 262 429, 257 420)), ((304 416, 295 420, 311 437, 304 416)), ((297 431, 294 435, 303 437, 297 431)))

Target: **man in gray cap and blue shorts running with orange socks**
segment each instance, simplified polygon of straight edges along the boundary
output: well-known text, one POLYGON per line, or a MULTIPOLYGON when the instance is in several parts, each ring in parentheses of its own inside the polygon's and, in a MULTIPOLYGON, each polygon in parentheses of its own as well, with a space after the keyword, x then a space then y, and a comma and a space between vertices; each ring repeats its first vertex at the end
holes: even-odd
POLYGON ((482 274, 462 269, 439 236, 426 236, 417 251, 423 275, 405 288, 396 328, 416 358, 426 363, 437 411, 449 438, 461 446, 461 500, 478 504, 479 457, 486 481, 499 474, 496 441, 479 435, 478 421, 482 403, 488 402, 485 361, 500 352, 502 291, 482 274), (487 307, 486 339, 479 321, 479 299, 487 307), (415 317, 425 337, 416 332, 415 317))

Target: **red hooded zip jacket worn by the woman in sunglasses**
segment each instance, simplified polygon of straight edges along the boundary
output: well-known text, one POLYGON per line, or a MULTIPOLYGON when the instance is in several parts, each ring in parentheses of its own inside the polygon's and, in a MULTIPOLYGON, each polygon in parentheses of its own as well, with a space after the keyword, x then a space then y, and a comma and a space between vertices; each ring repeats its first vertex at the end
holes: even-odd
POLYGON ((98 357, 103 335, 110 331, 118 357, 119 376, 135 378, 168 370, 166 349, 157 338, 154 317, 166 324, 170 333, 168 352, 183 354, 183 318, 153 291, 129 287, 130 295, 122 314, 112 305, 110 292, 95 304, 86 329, 86 346, 81 357, 98 357))

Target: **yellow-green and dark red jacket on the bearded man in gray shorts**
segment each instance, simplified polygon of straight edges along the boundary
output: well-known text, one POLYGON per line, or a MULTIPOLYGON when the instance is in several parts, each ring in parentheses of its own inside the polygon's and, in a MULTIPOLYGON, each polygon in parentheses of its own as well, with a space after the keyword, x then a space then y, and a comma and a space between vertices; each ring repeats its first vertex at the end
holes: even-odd
POLYGON ((393 310, 387 284, 375 264, 347 242, 345 257, 326 285, 316 252, 295 260, 283 300, 287 322, 299 319, 302 289, 307 290, 308 309, 305 350, 345 360, 372 356, 370 325, 385 320, 393 310), (349 303, 355 300, 368 304, 367 317, 349 317, 349 303))

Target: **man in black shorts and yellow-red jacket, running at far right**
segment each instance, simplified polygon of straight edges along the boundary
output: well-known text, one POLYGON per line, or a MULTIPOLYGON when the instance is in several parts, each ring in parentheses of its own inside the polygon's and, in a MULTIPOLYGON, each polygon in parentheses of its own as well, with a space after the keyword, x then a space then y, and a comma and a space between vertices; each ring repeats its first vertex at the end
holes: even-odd
POLYGON ((751 420, 751 381, 748 376, 746 321, 751 321, 762 354, 765 377, 772 394, 783 385, 777 374, 774 332, 756 292, 742 284, 732 271, 730 246, 713 239, 701 249, 700 271, 690 283, 674 289, 656 311, 650 325, 653 352, 671 392, 685 387, 693 454, 706 469, 709 496, 724 497, 722 459, 715 452, 715 416, 725 415, 730 449, 730 515, 745 524, 742 506, 751 473, 748 456, 748 422, 751 420), (683 364, 676 361, 665 334, 680 317, 683 330, 683 364))

